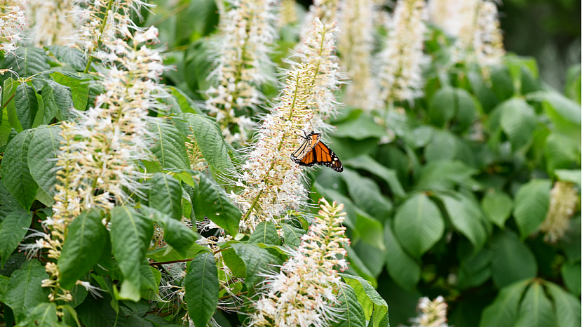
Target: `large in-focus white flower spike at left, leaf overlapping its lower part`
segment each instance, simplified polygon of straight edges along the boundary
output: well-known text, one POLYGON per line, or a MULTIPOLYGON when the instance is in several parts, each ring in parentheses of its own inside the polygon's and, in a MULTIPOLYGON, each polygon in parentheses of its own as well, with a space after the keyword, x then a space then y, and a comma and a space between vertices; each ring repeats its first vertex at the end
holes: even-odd
MULTIPOLYGON (((57 154, 57 180, 53 216, 44 225, 50 235, 39 246, 49 248, 49 258, 58 259, 67 225, 81 211, 100 208, 109 211, 128 199, 126 192, 139 192, 140 173, 136 160, 149 156, 147 114, 159 108, 156 100, 164 94, 158 76, 165 69, 158 52, 139 40, 154 41, 156 29, 131 36, 134 47, 117 39, 111 53, 97 53, 111 65, 97 96, 95 107, 79 112, 76 122, 63 122, 60 152, 57 154)), ((70 300, 70 294, 58 284, 58 267, 48 262, 49 279, 43 286, 53 288, 50 300, 70 300), (62 293, 62 295, 60 295, 62 293), (56 296, 55 296, 56 295, 56 296)))

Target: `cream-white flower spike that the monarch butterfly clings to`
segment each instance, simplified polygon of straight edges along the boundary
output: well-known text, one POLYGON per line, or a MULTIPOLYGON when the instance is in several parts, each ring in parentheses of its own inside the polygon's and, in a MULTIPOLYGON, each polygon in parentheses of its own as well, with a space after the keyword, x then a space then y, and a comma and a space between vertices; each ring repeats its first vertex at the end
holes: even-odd
POLYGON ((301 169, 290 159, 302 139, 296 134, 313 118, 310 102, 315 68, 302 64, 287 72, 280 105, 264 118, 259 138, 252 147, 243 173, 232 186, 243 189, 231 199, 245 212, 240 227, 252 232, 259 222, 275 221, 287 208, 304 205, 306 189, 301 184, 301 169))

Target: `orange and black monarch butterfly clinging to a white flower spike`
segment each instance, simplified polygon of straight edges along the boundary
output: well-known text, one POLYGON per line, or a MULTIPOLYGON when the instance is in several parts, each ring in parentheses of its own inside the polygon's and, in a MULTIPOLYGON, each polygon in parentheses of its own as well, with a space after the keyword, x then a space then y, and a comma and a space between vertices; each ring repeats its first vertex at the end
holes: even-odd
POLYGON ((332 168, 334 171, 341 173, 344 166, 339 161, 334 152, 323 144, 320 133, 305 133, 305 136, 299 135, 305 140, 302 145, 291 154, 291 160, 299 163, 300 166, 311 167, 316 163, 332 168))

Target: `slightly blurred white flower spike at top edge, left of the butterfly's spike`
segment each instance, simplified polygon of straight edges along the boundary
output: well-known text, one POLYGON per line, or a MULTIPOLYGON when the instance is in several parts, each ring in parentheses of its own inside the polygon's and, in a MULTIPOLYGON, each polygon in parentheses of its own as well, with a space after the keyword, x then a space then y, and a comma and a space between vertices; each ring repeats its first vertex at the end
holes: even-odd
POLYGON ((216 116, 226 140, 243 142, 254 124, 245 114, 255 109, 262 94, 257 86, 269 79, 269 53, 276 39, 273 0, 241 0, 231 4, 213 41, 217 67, 210 77, 217 86, 206 91, 206 108, 216 116), (234 130, 235 132, 233 133, 234 130))

